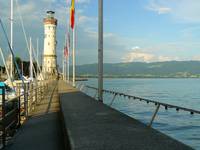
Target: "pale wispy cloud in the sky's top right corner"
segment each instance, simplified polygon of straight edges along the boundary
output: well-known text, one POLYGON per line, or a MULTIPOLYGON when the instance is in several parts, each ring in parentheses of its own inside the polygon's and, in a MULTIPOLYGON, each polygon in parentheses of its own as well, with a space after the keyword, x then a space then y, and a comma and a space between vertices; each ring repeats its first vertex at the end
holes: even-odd
POLYGON ((147 10, 170 14, 175 22, 200 23, 199 0, 150 0, 147 10))

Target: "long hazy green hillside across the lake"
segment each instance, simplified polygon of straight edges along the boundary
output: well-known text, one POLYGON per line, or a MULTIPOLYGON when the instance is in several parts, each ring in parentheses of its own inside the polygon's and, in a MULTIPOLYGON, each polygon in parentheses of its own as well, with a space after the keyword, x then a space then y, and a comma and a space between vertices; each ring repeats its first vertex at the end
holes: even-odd
MULTIPOLYGON (((97 64, 80 65, 77 66, 76 71, 78 76, 96 77, 97 64)), ((104 64, 104 76, 126 78, 199 78, 200 61, 104 64)))

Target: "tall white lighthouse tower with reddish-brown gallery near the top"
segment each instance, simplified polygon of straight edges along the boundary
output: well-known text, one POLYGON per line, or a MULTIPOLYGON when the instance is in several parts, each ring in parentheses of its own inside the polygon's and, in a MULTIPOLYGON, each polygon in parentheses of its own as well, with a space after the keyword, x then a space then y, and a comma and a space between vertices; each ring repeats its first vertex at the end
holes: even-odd
POLYGON ((57 19, 54 18, 55 12, 47 11, 44 18, 44 55, 42 73, 45 79, 57 78, 57 60, 56 60, 56 27, 57 19))

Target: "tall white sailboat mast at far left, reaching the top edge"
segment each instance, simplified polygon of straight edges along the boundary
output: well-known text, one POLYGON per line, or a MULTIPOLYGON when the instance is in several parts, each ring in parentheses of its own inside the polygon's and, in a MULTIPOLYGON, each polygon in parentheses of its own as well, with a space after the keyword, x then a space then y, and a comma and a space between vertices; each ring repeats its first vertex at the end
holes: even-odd
MULTIPOLYGON (((13 50, 13 0, 11 0, 11 13, 10 13, 10 47, 13 50)), ((10 76, 13 78, 13 56, 11 54, 10 76)))

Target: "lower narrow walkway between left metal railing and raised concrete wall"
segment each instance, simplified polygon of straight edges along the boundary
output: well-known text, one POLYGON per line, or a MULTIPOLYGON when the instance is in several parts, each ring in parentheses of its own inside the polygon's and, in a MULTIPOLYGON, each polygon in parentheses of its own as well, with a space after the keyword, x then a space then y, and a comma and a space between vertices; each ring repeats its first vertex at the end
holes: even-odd
POLYGON ((49 87, 32 117, 21 127, 6 150, 63 150, 57 82, 49 87))

